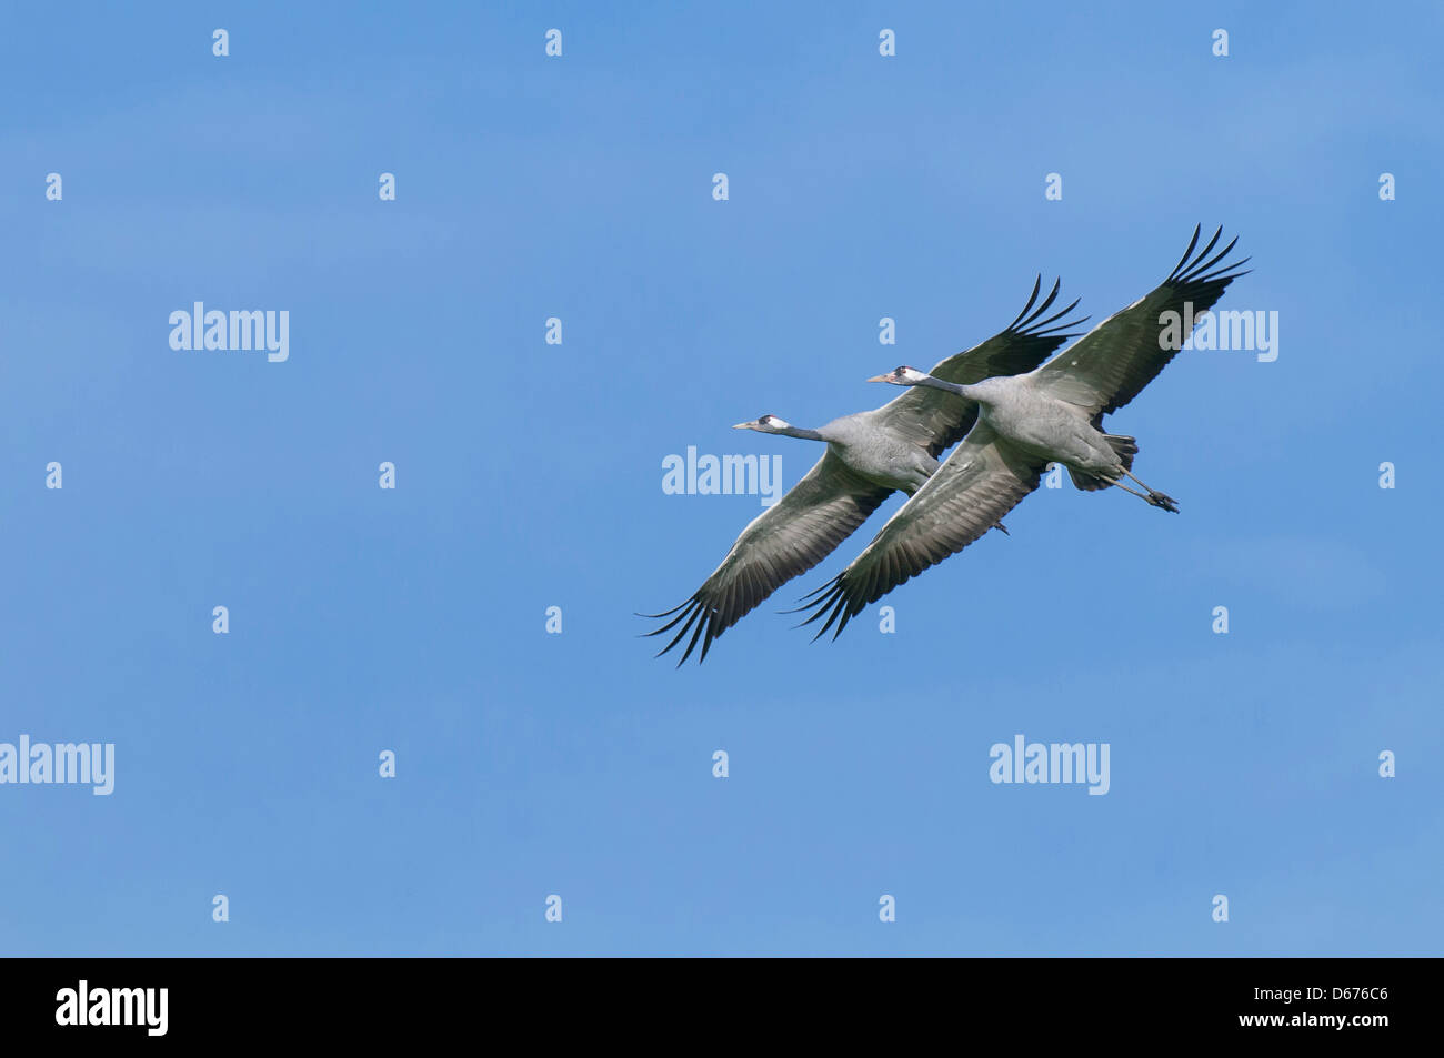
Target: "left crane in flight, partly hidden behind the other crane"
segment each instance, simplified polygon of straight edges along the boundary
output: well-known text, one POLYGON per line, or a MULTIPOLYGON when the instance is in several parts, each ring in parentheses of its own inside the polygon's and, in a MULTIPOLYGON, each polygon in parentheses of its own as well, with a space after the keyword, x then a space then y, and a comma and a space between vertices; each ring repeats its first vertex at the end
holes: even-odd
MULTIPOLYGON (((1038 367, 1069 338, 1077 336, 1070 328, 1087 319, 1064 320, 1077 307, 1077 300, 1044 316, 1057 300, 1060 284, 1061 280, 1054 281, 1048 296, 1038 303, 1043 290, 1040 274, 1028 303, 1012 323, 980 345, 939 362, 933 377, 967 384, 1038 367)), ((644 632, 645 637, 661 635, 680 625, 657 657, 690 632, 677 667, 692 655, 699 641, 702 654, 697 663, 705 661, 722 632, 780 586, 827 557, 892 492, 914 495, 921 489, 941 466, 939 456, 965 437, 976 419, 978 404, 973 400, 920 387, 879 408, 843 416, 817 429, 797 427, 771 414, 736 423, 736 430, 825 442, 827 450, 787 495, 742 530, 726 557, 690 599, 664 613, 638 615, 671 618, 661 628, 644 632)))

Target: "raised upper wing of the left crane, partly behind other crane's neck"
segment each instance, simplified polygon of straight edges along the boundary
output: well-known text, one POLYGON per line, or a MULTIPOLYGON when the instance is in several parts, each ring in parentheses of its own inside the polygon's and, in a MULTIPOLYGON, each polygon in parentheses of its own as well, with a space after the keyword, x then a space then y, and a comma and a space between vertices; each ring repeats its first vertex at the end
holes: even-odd
MULTIPOLYGON (((1060 280, 1061 281, 1061 280, 1060 280)), ((983 378, 996 375, 1021 375, 1032 371, 1048 355, 1076 333, 1060 333, 1077 326, 1083 319, 1058 323, 1077 307, 1074 300, 1066 309, 1047 316, 1044 313, 1058 297, 1058 283, 1037 309, 1032 306, 1043 290, 1043 276, 1032 284, 1032 296, 1022 306, 1022 312, 1006 328, 989 338, 982 345, 975 345, 966 352, 959 352, 941 361, 928 374, 946 382, 972 385, 983 378)), ((960 442, 978 421, 978 404, 944 390, 930 390, 926 385, 914 385, 901 397, 888 401, 878 408, 874 416, 891 430, 897 430, 913 437, 927 449, 927 453, 937 459, 944 450, 960 442)))

